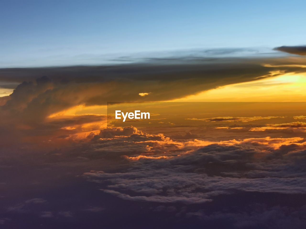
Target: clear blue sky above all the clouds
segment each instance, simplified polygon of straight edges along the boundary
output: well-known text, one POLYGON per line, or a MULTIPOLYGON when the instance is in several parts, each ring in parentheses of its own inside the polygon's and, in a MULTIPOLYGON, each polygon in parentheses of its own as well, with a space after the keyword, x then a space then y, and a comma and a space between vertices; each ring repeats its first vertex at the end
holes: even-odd
POLYGON ((305 44, 305 1, 1 1, 0 67, 305 44))

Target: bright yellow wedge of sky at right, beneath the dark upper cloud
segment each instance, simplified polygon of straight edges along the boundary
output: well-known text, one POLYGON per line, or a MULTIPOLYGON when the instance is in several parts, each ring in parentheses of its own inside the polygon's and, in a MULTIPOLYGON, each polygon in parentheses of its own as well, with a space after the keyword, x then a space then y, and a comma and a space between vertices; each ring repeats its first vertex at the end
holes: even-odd
POLYGON ((306 73, 278 74, 279 72, 271 72, 270 77, 261 77, 252 82, 226 85, 172 101, 305 102, 306 73))

